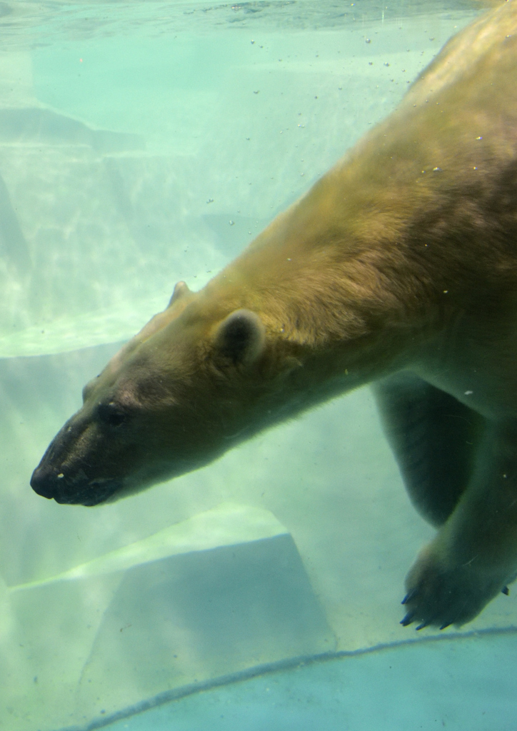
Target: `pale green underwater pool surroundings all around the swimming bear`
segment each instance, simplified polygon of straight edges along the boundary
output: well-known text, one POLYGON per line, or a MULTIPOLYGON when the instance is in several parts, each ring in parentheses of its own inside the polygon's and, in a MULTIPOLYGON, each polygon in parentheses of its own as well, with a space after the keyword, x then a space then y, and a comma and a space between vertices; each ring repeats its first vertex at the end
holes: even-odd
POLYGON ((29 486, 175 282, 202 287, 481 10, 0 2, 1 728, 516 727, 515 592, 464 632, 399 624, 433 530, 367 389, 117 503, 29 486))

